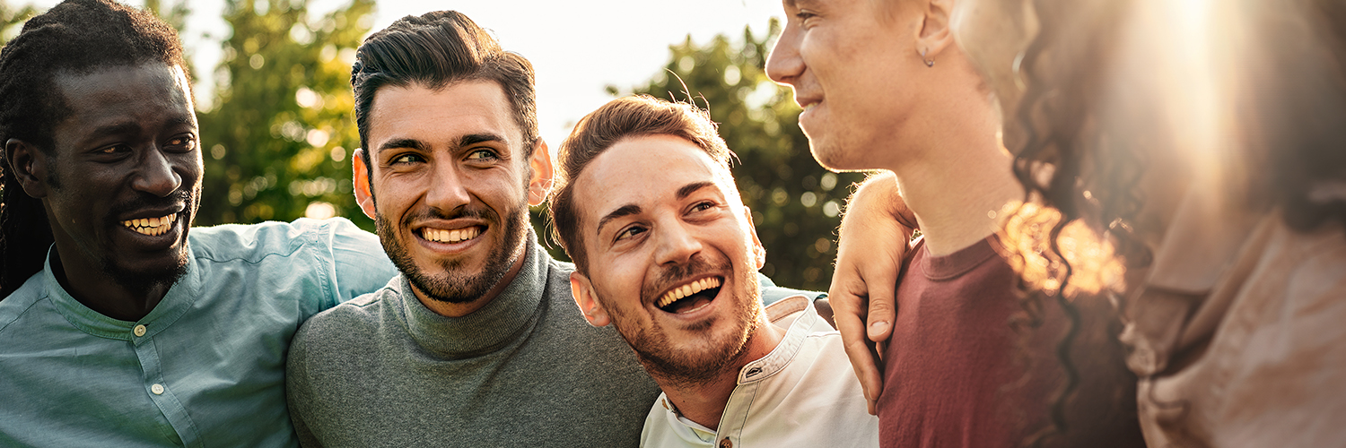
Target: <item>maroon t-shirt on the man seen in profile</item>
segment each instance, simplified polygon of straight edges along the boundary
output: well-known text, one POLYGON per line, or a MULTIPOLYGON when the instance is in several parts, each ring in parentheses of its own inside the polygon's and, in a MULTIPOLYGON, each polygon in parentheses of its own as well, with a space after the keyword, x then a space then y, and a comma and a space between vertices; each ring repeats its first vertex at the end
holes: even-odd
POLYGON ((1059 377, 1024 375, 1010 326, 1022 309, 1015 272, 996 241, 942 257, 918 241, 909 252, 883 357, 880 447, 1018 447, 1047 424, 1059 377))

